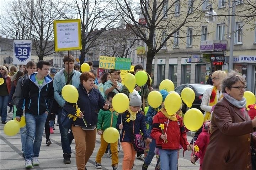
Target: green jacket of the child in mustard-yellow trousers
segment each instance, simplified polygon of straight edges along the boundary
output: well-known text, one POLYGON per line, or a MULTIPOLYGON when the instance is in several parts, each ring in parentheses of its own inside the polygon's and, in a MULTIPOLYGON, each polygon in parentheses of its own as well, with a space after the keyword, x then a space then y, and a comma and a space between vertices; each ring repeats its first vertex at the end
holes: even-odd
POLYGON ((116 111, 111 112, 111 109, 108 111, 100 109, 98 114, 97 131, 102 130, 103 132, 110 127, 116 128, 117 117, 118 113, 116 111))

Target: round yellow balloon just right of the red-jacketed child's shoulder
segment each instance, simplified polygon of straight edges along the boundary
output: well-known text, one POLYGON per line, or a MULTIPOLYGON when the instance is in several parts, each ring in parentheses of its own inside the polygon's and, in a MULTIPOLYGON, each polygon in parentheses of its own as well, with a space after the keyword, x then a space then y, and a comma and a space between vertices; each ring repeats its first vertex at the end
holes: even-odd
POLYGON ((183 118, 185 127, 190 131, 196 131, 203 125, 203 113, 196 108, 189 109, 183 118))

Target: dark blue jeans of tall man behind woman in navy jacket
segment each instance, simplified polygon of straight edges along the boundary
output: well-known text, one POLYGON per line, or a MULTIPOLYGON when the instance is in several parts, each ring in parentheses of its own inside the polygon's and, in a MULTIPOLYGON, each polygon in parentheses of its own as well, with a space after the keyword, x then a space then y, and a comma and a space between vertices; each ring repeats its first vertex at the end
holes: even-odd
POLYGON ((71 147, 70 144, 74 139, 72 131, 69 133, 68 128, 64 128, 61 125, 60 117, 62 115, 62 108, 58 108, 58 120, 59 120, 59 130, 60 130, 60 137, 62 141, 62 151, 63 153, 71 154, 71 147))

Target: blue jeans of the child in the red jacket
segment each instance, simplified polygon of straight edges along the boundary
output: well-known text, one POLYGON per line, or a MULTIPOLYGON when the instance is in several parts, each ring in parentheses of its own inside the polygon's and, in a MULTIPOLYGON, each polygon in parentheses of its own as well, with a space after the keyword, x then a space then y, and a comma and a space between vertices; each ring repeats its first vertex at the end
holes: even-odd
POLYGON ((177 170, 178 150, 159 149, 161 170, 177 170))

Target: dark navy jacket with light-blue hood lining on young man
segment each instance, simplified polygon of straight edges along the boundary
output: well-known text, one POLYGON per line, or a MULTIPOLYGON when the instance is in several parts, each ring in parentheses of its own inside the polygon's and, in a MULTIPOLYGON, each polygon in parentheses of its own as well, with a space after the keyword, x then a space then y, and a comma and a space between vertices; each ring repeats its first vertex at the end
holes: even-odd
POLYGON ((44 114, 46 111, 50 113, 54 97, 52 78, 49 75, 44 77, 43 84, 40 87, 36 81, 36 74, 32 73, 22 86, 22 97, 18 102, 16 112, 17 117, 21 117, 23 114, 24 100, 25 113, 37 116, 44 114))

